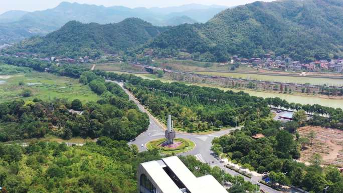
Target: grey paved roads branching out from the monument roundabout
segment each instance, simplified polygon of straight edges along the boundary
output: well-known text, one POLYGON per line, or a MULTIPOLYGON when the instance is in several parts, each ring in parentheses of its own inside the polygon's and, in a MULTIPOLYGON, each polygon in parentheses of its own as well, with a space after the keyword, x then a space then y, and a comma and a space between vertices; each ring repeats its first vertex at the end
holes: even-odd
MULTIPOLYGON (((109 82, 115 82, 115 81, 110 81, 110 80, 106 80, 109 82)), ((124 91, 128 94, 129 99, 134 101, 138 108, 142 111, 142 112, 146 112, 149 116, 150 119, 150 125, 147 129, 147 131, 141 133, 139 136, 136 137, 136 139, 134 141, 129 142, 130 144, 135 144, 138 146, 139 151, 145 151, 145 144, 148 141, 151 141, 153 139, 157 139, 157 138, 162 138, 164 137, 164 129, 165 126, 160 124, 159 121, 157 121, 140 103, 139 101, 127 90, 123 87, 123 83, 121 82, 115 82, 117 84, 119 84, 124 91), (142 146, 143 145, 143 146, 142 146)), ((253 176, 252 178, 248 178, 240 173, 235 172, 234 170, 231 170, 227 167, 224 166, 224 164, 220 163, 220 161, 215 157, 215 154, 213 153, 213 151, 211 150, 211 146, 212 146, 212 140, 215 137, 220 137, 223 136, 225 134, 228 134, 236 129, 241 129, 242 126, 239 127, 235 127, 235 128, 231 128, 231 129, 227 129, 227 130, 222 130, 222 131, 218 131, 212 134, 207 134, 207 135, 197 135, 197 134, 188 134, 188 133, 177 133, 177 137, 180 138, 187 138, 190 139, 192 141, 194 141, 196 143, 196 147, 191 150, 188 151, 186 153, 181 153, 182 155, 196 155, 196 154, 201 154, 202 157, 204 158, 204 160, 206 162, 210 162, 211 166, 219 166, 222 169, 224 169, 227 173, 230 173, 232 176, 237 176, 237 175, 241 175, 244 177, 244 180, 246 181, 251 181, 251 182, 257 182, 258 180, 260 180, 260 178, 258 176, 253 176)), ((277 191, 273 188, 270 188, 266 185, 261 184, 260 186, 261 189, 269 192, 269 193, 280 193, 280 191, 277 191)))

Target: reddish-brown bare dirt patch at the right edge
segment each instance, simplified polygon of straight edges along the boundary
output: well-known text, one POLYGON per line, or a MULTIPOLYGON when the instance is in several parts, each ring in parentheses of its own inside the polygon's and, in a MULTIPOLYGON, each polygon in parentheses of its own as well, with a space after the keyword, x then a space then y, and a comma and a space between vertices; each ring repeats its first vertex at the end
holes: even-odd
POLYGON ((307 145, 301 151, 300 161, 308 162, 314 153, 319 153, 324 165, 343 165, 343 131, 318 126, 305 126, 298 129, 302 137, 308 136, 310 131, 316 133, 313 144, 307 145))

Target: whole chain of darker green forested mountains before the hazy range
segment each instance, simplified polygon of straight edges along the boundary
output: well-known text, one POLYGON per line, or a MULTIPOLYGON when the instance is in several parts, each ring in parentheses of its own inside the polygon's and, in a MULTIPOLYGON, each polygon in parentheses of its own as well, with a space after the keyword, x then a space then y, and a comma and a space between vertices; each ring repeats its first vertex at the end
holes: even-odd
POLYGON ((232 55, 256 58, 266 53, 299 61, 338 58, 343 57, 343 2, 255 2, 227 9, 205 24, 174 27, 155 27, 139 19, 104 26, 73 22, 44 38, 33 38, 11 48, 15 49, 66 57, 80 53, 96 56, 95 50, 124 51, 134 58, 177 57, 217 62, 227 61, 232 55), (129 28, 120 30, 121 26, 129 28), (108 39, 107 29, 116 33, 111 37, 126 37, 128 42, 122 41, 120 45, 116 39, 108 39), (130 36, 125 34, 129 31, 133 31, 130 36))

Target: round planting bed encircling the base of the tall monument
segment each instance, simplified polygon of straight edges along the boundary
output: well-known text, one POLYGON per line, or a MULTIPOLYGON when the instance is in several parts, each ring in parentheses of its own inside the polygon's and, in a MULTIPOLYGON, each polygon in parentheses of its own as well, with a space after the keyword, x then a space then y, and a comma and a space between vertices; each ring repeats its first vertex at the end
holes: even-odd
POLYGON ((155 139, 146 143, 147 149, 157 149, 161 153, 184 153, 194 149, 195 143, 189 139, 176 138, 174 144, 166 144, 166 139, 155 139))

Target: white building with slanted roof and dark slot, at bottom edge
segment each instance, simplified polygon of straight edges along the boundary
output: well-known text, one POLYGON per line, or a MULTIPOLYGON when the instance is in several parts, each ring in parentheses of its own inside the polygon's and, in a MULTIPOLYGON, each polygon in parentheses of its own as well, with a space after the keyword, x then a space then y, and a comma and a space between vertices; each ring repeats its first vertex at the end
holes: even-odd
POLYGON ((212 175, 196 177, 177 156, 139 164, 137 177, 138 193, 227 193, 212 175))

